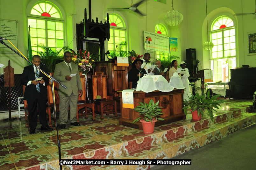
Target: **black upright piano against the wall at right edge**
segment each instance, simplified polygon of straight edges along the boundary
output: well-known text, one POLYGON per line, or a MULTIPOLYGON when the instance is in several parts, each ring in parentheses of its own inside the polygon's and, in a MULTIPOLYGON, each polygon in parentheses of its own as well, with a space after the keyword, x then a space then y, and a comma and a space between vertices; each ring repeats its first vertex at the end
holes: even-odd
POLYGON ((252 99, 256 91, 256 67, 231 70, 230 98, 252 99))

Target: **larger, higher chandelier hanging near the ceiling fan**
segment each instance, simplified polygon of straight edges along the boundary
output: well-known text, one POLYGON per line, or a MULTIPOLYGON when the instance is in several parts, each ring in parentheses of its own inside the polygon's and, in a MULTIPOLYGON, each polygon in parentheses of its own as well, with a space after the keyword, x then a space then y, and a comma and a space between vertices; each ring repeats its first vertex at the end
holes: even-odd
POLYGON ((164 16, 164 21, 170 26, 179 25, 182 20, 183 15, 179 11, 174 11, 174 8, 172 11, 167 12, 167 14, 164 16))

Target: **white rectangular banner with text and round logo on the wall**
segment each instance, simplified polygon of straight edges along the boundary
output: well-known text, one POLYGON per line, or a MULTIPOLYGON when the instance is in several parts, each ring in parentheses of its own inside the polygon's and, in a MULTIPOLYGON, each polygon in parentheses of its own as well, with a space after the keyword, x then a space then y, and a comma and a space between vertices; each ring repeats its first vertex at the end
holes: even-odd
POLYGON ((145 50, 170 53, 169 37, 144 31, 144 48, 145 50))

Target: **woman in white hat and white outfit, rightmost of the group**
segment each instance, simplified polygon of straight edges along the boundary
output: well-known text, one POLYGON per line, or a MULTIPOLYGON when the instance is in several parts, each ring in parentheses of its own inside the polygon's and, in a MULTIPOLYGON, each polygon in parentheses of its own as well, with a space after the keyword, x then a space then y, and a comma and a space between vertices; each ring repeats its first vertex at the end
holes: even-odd
POLYGON ((185 68, 186 63, 184 61, 181 61, 180 66, 183 70, 185 70, 185 71, 181 72, 182 83, 183 83, 183 86, 186 88, 186 89, 184 89, 183 100, 188 101, 191 96, 190 88, 189 88, 189 81, 188 81, 189 72, 188 72, 188 68, 185 68))

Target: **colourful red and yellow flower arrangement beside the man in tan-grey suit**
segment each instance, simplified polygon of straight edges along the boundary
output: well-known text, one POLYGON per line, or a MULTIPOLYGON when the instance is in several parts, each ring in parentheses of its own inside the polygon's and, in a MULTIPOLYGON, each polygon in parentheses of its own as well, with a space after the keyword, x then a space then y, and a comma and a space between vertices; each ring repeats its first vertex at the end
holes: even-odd
POLYGON ((87 74, 91 69, 95 68, 94 60, 90 57, 90 52, 86 53, 85 50, 79 50, 79 54, 76 54, 75 51, 72 52, 72 61, 78 65, 79 72, 87 74))

